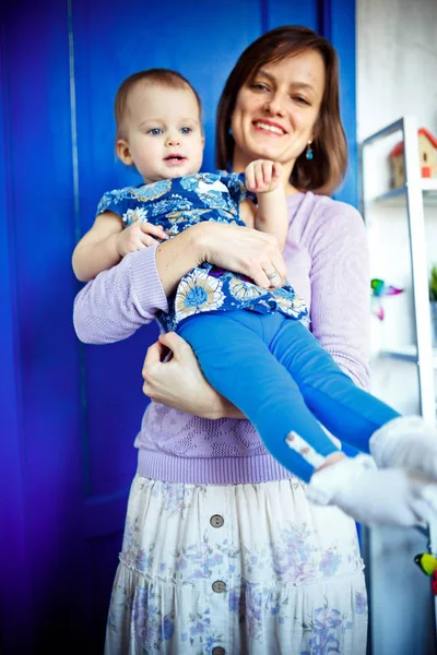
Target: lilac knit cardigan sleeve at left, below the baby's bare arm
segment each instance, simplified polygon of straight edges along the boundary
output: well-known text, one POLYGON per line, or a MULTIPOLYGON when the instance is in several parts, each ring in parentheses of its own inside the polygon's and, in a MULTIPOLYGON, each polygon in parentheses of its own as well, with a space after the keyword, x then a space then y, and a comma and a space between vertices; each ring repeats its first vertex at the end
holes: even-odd
POLYGON ((86 344, 107 344, 127 338, 150 323, 157 311, 168 311, 156 269, 156 246, 126 255, 103 271, 78 294, 73 323, 86 344))

